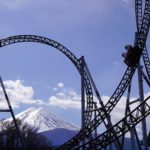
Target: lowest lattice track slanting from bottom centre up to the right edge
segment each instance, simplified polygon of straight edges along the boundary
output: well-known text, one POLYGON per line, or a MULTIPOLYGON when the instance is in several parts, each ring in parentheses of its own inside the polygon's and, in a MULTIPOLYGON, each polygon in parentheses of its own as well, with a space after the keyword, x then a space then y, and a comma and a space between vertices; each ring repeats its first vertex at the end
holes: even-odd
MULTIPOLYGON (((97 136, 94 140, 91 140, 90 142, 82 145, 82 148, 84 148, 84 150, 91 150, 95 148, 99 150, 106 148, 109 144, 111 144, 112 142, 123 136, 125 133, 130 131, 149 114, 150 114, 150 96, 146 98, 139 106, 137 106, 122 120, 120 120, 113 127, 111 127, 109 130, 97 136), (141 107, 145 108, 145 113, 142 113, 141 107), (116 138, 114 138, 112 132, 114 130, 117 135, 116 138)), ((78 149, 79 148, 80 147, 78 147, 78 149)))

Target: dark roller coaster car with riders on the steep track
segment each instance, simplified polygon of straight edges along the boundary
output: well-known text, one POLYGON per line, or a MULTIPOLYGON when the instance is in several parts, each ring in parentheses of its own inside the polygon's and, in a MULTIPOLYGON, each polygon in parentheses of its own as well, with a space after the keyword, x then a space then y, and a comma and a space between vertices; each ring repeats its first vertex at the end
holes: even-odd
POLYGON ((122 54, 125 64, 129 67, 135 67, 140 60, 142 49, 136 46, 132 47, 131 45, 125 46, 125 49, 127 52, 122 54))

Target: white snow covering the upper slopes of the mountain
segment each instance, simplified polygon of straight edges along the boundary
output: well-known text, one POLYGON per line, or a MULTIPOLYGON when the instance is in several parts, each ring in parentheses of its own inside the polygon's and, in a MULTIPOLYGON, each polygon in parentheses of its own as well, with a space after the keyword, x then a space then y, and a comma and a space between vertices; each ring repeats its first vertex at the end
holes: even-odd
POLYGON ((69 123, 63 119, 58 118, 54 114, 46 111, 44 108, 31 107, 16 115, 17 119, 23 121, 23 123, 36 128, 37 132, 44 132, 53 130, 56 128, 64 128, 68 130, 79 130, 80 128, 72 123, 69 123))

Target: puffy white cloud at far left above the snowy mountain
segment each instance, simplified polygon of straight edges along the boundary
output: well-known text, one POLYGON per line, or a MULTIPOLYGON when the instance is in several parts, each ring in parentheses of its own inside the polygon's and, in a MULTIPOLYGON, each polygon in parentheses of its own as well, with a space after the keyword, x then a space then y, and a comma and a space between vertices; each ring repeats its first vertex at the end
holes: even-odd
MULTIPOLYGON (((19 108, 20 104, 44 104, 40 99, 33 99, 33 88, 23 85, 21 80, 7 80, 4 81, 4 85, 13 108, 19 108)), ((2 88, 0 88, 0 108, 8 108, 7 106, 2 88)))

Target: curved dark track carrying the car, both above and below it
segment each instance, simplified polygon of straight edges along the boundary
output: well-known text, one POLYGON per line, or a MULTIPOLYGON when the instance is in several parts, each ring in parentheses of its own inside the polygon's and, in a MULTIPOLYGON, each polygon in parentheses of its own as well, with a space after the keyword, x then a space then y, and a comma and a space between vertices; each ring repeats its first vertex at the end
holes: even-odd
MULTIPOLYGON (((146 0, 143 20, 142 20, 142 1, 141 0, 138 1, 137 3, 138 6, 136 7, 136 9, 138 8, 141 10, 138 11, 139 15, 137 15, 137 20, 140 20, 140 21, 137 21, 138 29, 140 28, 140 30, 138 33, 138 37, 136 38, 136 41, 135 41, 135 46, 140 47, 142 50, 145 47, 146 39, 147 39, 148 32, 149 32, 149 22, 150 22, 149 2, 150 2, 149 0, 146 0)), ((144 53, 144 50, 142 53, 144 53)), ((148 53, 146 52, 146 54, 148 53)), ((135 70, 136 68, 130 68, 130 67, 127 68, 117 89, 115 90, 111 98, 109 99, 108 103, 105 105, 107 115, 109 115, 109 113, 113 110, 113 108, 119 102, 121 96, 123 95, 127 86, 129 85, 135 70)), ((62 149, 62 150, 63 149, 68 149, 68 150, 76 149, 78 145, 80 144, 80 141, 83 140, 85 136, 88 137, 88 135, 92 133, 92 131, 94 131, 106 118, 105 112, 104 110, 102 110, 102 108, 100 108, 98 112, 99 114, 88 124, 88 126, 86 126, 84 129, 81 130, 82 134, 75 136, 68 142, 64 143, 58 149, 62 149)))

